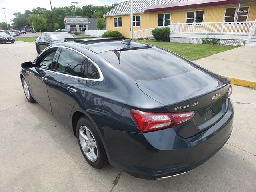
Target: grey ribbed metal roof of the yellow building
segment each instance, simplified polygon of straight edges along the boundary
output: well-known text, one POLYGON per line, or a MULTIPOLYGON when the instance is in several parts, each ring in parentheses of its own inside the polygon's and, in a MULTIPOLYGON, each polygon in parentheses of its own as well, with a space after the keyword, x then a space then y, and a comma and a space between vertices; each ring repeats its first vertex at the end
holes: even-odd
MULTIPOLYGON (((150 5, 160 5, 182 1, 190 0, 133 0, 133 13, 144 13, 145 8, 150 5)), ((130 14, 130 1, 123 1, 115 6, 112 10, 104 14, 104 17, 128 14, 130 14)))

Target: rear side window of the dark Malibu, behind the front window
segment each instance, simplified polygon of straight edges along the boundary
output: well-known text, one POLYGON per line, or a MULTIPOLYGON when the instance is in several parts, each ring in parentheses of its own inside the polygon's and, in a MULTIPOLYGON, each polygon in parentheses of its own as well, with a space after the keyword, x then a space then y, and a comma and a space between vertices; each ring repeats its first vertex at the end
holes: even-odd
POLYGON ((78 52, 65 48, 62 48, 60 53, 56 64, 56 71, 82 78, 100 78, 98 69, 90 60, 78 52))

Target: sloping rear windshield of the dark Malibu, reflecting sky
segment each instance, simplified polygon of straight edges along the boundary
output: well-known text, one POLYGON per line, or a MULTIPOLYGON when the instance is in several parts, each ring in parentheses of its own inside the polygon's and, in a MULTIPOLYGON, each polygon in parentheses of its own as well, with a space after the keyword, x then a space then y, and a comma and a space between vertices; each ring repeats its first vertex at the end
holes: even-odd
POLYGON ((195 66, 182 58, 159 48, 99 53, 110 64, 136 80, 155 80, 195 70, 195 66))

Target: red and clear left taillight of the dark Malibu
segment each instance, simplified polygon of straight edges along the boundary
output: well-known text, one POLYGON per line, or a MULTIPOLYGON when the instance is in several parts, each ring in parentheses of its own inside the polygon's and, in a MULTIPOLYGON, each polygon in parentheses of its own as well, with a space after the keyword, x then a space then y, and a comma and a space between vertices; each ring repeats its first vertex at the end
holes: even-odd
POLYGON ((152 113, 131 109, 130 113, 140 132, 150 132, 169 128, 190 120, 195 112, 152 113))

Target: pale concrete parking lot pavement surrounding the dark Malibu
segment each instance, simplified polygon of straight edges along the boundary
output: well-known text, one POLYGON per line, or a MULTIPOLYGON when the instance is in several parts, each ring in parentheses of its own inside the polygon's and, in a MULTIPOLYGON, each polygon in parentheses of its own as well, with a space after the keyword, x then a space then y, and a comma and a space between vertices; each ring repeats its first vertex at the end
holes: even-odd
POLYGON ((233 132, 210 160, 187 174, 143 180, 112 166, 89 166, 76 137, 39 104, 26 101, 20 63, 36 56, 34 43, 0 45, 0 192, 256 191, 256 90, 233 86, 233 132))

